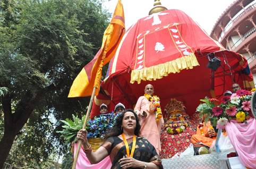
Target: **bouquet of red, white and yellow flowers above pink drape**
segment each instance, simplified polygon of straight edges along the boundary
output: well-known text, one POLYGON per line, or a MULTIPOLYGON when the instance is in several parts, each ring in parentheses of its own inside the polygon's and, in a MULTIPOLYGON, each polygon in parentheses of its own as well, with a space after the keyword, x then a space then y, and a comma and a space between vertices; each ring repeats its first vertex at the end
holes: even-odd
POLYGON ((218 129, 224 128, 230 119, 246 123, 251 112, 251 97, 255 90, 237 90, 231 96, 224 96, 220 101, 206 97, 200 100, 203 103, 197 107, 197 111, 201 116, 206 115, 204 121, 210 118, 211 125, 218 129))

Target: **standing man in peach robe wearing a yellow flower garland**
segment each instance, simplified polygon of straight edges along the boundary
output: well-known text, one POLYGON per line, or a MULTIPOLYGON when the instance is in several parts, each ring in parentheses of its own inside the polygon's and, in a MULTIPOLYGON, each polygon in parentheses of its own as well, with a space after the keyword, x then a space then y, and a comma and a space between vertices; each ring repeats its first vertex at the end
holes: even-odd
POLYGON ((146 96, 153 96, 154 88, 148 84, 145 87, 145 95, 139 97, 134 111, 139 116, 141 124, 141 137, 145 137, 156 148, 157 153, 161 152, 160 132, 161 125, 164 124, 164 119, 161 117, 156 119, 156 108, 153 107, 152 101, 146 96))

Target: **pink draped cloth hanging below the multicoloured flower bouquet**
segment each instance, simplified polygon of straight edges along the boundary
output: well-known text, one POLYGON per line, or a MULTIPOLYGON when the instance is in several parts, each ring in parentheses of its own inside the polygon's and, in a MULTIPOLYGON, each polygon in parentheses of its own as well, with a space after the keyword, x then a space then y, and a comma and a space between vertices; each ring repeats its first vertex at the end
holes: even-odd
POLYGON ((256 120, 250 118, 247 124, 231 120, 225 128, 244 166, 256 168, 256 120))

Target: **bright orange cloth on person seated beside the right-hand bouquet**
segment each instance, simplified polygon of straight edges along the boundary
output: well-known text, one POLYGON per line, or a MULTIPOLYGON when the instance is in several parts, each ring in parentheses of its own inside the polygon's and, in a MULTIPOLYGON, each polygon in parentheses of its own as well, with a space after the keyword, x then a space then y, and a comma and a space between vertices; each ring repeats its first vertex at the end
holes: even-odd
POLYGON ((212 145, 212 142, 216 139, 216 137, 210 138, 208 135, 209 128, 212 128, 210 121, 208 121, 206 124, 203 123, 203 134, 201 134, 201 130, 199 127, 197 127, 197 134, 192 135, 191 137, 191 143, 197 144, 202 143, 203 145, 206 145, 210 147, 212 145))

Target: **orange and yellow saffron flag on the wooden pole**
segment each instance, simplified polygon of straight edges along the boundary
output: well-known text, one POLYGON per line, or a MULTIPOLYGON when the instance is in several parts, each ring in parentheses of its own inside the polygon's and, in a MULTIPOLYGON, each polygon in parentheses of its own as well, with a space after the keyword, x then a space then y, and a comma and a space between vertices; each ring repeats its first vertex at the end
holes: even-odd
POLYGON ((96 87, 95 95, 98 95, 102 68, 115 54, 124 33, 124 10, 118 0, 113 18, 104 32, 100 50, 75 78, 68 97, 91 96, 93 87, 96 87))

